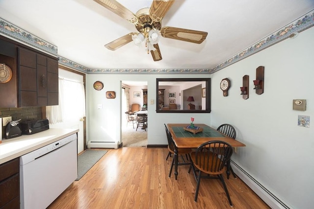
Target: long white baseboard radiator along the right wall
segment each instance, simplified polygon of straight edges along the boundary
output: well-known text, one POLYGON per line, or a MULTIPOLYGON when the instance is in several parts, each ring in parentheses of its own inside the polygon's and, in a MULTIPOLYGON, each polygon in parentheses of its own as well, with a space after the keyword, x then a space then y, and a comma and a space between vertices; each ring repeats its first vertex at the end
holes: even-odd
MULTIPOLYGON (((272 209, 290 209, 286 203, 276 197, 269 189, 262 186, 256 179, 242 169, 238 164, 231 160, 231 166, 235 174, 249 186, 270 208, 272 209)), ((230 175, 230 178, 233 178, 230 175)))

